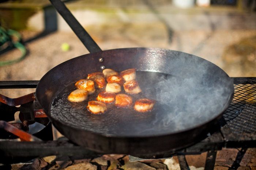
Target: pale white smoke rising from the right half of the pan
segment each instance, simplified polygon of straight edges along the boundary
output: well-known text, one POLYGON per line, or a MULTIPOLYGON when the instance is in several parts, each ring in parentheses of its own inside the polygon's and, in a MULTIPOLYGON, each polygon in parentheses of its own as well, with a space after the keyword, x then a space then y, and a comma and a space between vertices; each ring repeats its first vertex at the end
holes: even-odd
POLYGON ((161 108, 156 111, 156 117, 163 117, 153 121, 153 127, 161 128, 163 131, 169 128, 180 131, 217 115, 229 100, 228 97, 223 97, 228 89, 227 86, 223 86, 223 82, 211 84, 212 81, 205 79, 205 76, 202 74, 197 77, 181 78, 162 75, 157 77, 155 89, 145 88, 147 92, 151 92, 146 93, 146 97, 155 96, 161 108))

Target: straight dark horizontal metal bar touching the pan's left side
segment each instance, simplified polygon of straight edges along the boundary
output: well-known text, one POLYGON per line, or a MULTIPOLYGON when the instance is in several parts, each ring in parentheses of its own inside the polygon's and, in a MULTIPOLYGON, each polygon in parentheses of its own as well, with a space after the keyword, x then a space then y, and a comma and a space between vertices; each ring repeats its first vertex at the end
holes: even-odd
POLYGON ((36 88, 38 80, 35 81, 0 81, 0 89, 25 89, 36 88))

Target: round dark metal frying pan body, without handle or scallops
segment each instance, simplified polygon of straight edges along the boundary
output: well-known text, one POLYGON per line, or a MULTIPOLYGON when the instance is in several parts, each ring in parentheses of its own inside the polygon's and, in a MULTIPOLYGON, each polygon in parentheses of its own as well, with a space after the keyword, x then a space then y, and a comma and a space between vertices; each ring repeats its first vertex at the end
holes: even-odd
POLYGON ((95 51, 54 67, 36 89, 39 103, 57 130, 91 150, 142 155, 188 146, 210 130, 233 97, 231 78, 194 55, 150 48, 95 51), (153 111, 138 113, 108 105, 106 113, 93 115, 86 109, 88 101, 68 102, 74 83, 99 72, 102 65, 117 71, 136 68, 143 92, 133 99, 155 99, 153 111))

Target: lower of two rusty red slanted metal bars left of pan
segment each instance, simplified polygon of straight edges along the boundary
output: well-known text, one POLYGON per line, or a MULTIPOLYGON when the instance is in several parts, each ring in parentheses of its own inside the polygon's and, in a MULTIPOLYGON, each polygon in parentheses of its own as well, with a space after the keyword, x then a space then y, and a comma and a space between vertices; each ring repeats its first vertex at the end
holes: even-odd
POLYGON ((41 141, 41 139, 23 131, 23 130, 16 128, 15 126, 11 125, 10 123, 8 123, 4 120, 0 120, 0 128, 18 136, 20 139, 25 140, 25 141, 41 141))

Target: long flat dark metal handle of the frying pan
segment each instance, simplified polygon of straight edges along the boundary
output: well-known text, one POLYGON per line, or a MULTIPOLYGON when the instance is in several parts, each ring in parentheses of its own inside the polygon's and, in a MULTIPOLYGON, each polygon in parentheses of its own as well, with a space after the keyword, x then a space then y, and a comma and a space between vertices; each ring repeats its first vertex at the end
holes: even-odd
POLYGON ((102 51, 61 0, 50 0, 50 2, 90 53, 102 51))

